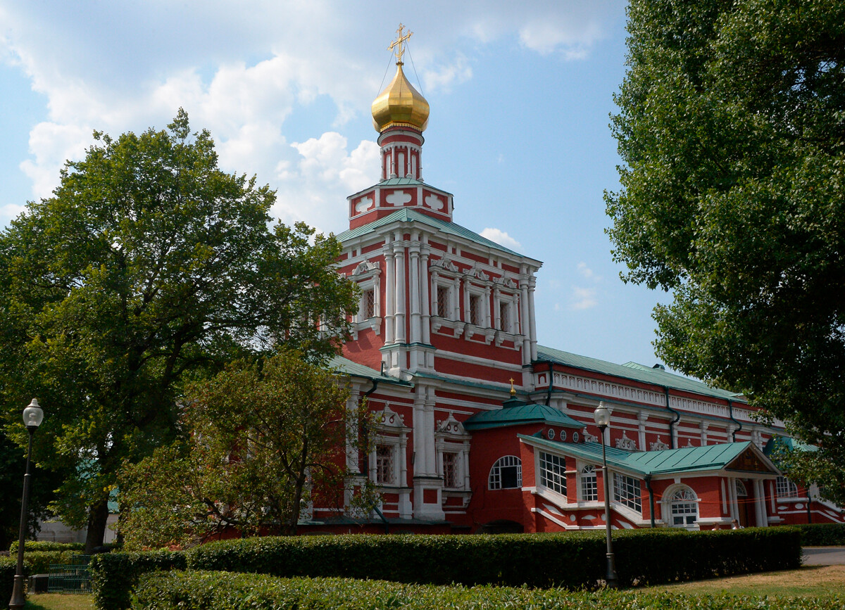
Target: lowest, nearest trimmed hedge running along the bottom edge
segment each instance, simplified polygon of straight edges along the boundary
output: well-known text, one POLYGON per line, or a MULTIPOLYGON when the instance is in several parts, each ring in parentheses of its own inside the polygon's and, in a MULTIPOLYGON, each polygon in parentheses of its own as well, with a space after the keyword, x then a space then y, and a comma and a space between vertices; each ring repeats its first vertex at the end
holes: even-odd
MULTIPOLYGON (((839 610, 841 596, 752 597, 725 594, 707 596, 706 607, 728 610, 839 610)), ((628 610, 659 607, 665 610, 698 610, 700 596, 636 591, 566 591, 477 586, 402 585, 379 580, 282 579, 266 575, 227 572, 171 572, 144 575, 135 610, 628 610)))

